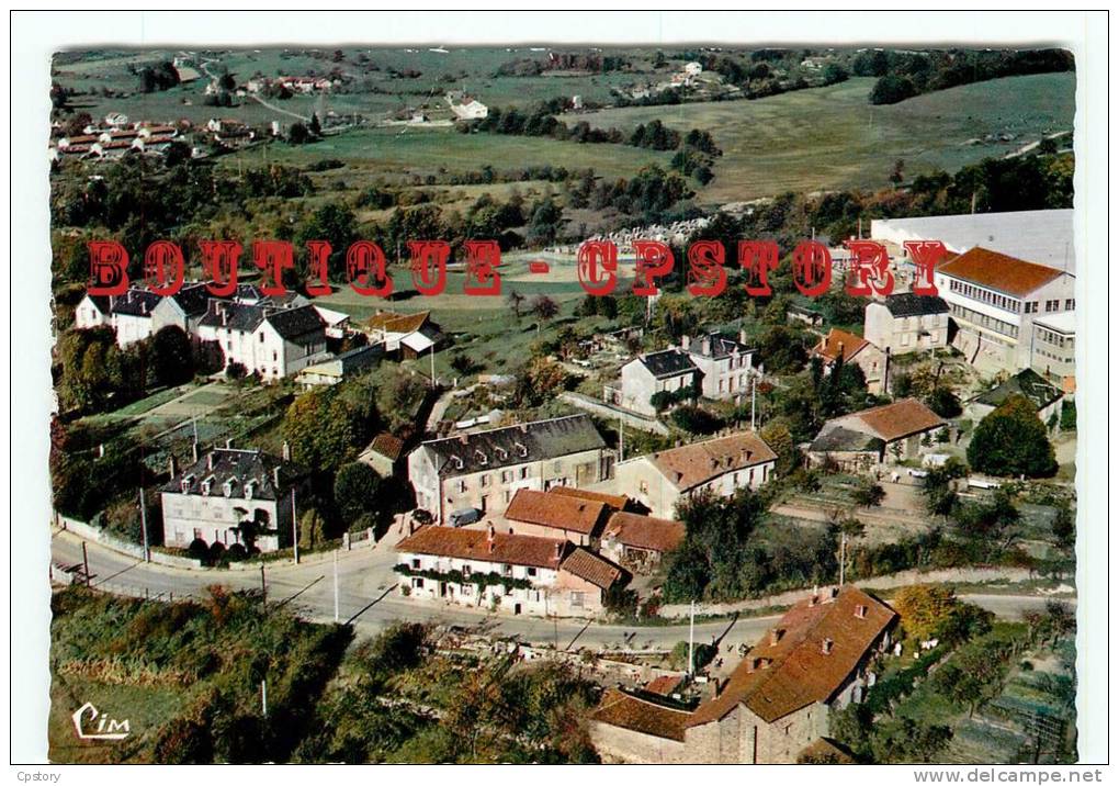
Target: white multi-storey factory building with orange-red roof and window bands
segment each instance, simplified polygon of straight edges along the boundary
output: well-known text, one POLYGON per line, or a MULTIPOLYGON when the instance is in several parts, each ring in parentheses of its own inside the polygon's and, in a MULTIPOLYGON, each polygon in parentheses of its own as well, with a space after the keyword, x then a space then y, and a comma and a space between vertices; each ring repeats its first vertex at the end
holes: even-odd
POLYGON ((977 366, 1028 368, 1034 321, 1074 311, 1071 273, 976 247, 933 277, 958 327, 953 346, 977 366))

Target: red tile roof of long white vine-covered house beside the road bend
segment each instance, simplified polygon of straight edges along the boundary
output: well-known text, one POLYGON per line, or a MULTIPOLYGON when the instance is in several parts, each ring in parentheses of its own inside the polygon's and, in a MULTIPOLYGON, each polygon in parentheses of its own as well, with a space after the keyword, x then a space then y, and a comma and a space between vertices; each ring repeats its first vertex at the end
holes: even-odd
POLYGON ((492 530, 424 526, 397 543, 396 551, 557 570, 567 551, 567 543, 551 537, 515 535, 492 530))

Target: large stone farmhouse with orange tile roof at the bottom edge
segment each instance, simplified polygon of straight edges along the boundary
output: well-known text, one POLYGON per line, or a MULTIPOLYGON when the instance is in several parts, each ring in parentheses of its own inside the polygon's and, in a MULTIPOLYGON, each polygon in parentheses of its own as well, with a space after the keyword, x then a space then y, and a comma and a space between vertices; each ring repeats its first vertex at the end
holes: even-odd
POLYGON ((814 592, 746 654, 715 698, 692 709, 610 689, 591 714, 605 761, 792 764, 829 732, 829 711, 861 702, 897 615, 855 587, 814 592))

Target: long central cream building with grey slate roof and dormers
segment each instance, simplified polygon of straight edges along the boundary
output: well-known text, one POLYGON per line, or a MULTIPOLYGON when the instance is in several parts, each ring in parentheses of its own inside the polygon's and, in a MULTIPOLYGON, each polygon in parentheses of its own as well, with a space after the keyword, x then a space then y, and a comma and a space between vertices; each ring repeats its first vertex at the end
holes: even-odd
POLYGON ((589 415, 477 431, 421 443, 408 455, 416 507, 451 514, 506 509, 521 488, 589 486, 610 478, 614 453, 589 415))

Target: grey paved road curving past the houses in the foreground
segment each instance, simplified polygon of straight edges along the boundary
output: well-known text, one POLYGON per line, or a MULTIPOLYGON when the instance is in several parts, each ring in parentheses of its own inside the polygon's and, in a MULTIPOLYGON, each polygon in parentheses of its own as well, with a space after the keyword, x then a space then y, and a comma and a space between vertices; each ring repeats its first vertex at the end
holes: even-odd
MULTIPOLYGON (((397 619, 425 618, 434 623, 483 626, 492 635, 518 637, 536 644, 558 643, 562 648, 592 649, 670 648, 688 636, 687 624, 658 626, 620 626, 574 619, 540 619, 511 617, 463 607, 421 603, 401 598, 393 589, 396 561, 392 543, 395 531, 377 546, 357 546, 338 556, 338 609, 341 621, 352 621, 361 635, 374 634, 397 619)), ((194 571, 144 563, 95 543, 87 543, 91 583, 94 588, 143 597, 199 596, 209 584, 220 583, 234 589, 260 589, 261 571, 194 571)), ((82 539, 68 532, 51 537, 51 559, 56 564, 76 565, 82 562, 82 539)), ((278 564, 264 568, 270 602, 292 605, 310 619, 330 621, 335 618, 332 554, 314 554, 299 565, 278 564)), ((1016 618, 1024 609, 1042 608, 1046 598, 1035 596, 969 595, 971 602, 1000 617, 1016 618)), ((1075 601, 1072 601, 1075 602, 1075 601)), ((724 647, 740 643, 753 644, 778 619, 777 616, 743 617, 735 621, 722 619, 696 624, 696 640, 720 638, 724 647)))

